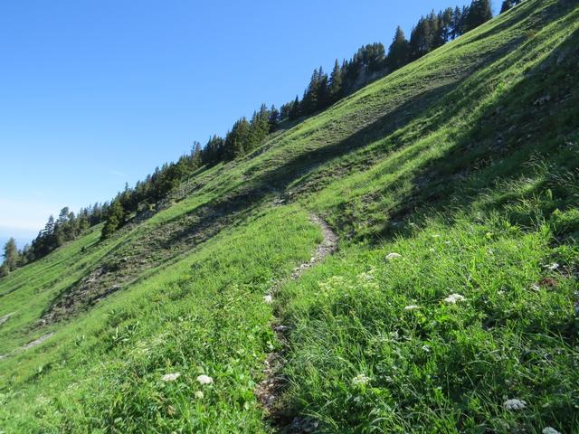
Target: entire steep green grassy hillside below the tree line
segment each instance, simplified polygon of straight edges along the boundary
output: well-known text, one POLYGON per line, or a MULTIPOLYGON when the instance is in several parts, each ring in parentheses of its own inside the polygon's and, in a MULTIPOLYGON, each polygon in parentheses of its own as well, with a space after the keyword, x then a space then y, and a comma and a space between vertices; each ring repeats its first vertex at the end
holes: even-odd
POLYGON ((578 430, 578 67, 527 0, 15 270, 0 429, 578 430))

